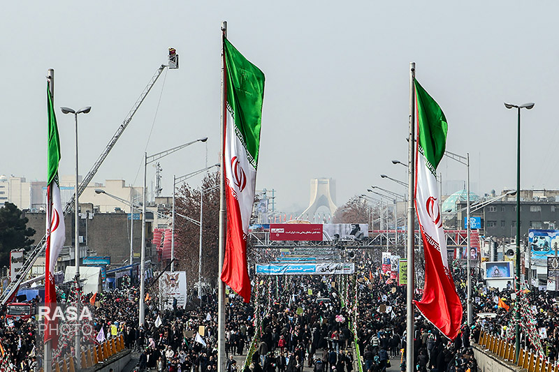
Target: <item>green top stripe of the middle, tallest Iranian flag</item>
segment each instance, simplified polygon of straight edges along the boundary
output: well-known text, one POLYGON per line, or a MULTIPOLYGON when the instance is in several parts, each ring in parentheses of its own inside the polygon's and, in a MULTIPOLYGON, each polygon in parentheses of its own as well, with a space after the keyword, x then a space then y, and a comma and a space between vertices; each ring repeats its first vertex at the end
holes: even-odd
POLYGON ((264 74, 224 38, 227 109, 237 133, 256 169, 260 146, 264 74))

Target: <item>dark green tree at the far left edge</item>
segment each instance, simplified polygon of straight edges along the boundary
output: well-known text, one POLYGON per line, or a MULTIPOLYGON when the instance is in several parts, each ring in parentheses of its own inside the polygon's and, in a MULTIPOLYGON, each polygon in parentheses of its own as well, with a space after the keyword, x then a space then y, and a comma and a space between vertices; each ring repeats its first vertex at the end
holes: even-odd
POLYGON ((15 204, 6 202, 0 208, 0 267, 10 265, 10 251, 25 248, 34 243, 35 230, 27 228, 29 219, 22 216, 22 211, 15 204))

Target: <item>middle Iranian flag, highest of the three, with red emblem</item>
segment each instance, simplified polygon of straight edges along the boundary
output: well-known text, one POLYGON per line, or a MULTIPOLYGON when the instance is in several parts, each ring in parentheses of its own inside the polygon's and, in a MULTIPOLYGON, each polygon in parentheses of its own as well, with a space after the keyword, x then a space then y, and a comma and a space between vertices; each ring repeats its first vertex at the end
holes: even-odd
POLYGON ((226 108, 224 172, 227 238, 222 281, 250 301, 247 233, 254 204, 264 74, 223 38, 226 108))

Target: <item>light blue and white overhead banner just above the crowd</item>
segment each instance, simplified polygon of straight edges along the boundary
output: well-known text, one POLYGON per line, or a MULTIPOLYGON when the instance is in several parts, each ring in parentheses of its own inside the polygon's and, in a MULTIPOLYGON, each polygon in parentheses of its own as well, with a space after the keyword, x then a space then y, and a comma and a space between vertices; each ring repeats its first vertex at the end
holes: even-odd
POLYGON ((259 275, 342 275, 354 274, 353 262, 327 262, 317 264, 256 264, 259 275))

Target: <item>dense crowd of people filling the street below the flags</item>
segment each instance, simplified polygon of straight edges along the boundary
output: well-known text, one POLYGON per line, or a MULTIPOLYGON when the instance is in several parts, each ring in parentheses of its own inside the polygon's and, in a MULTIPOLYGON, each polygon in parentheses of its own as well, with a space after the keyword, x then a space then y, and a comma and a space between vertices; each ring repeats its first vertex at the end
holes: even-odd
MULTIPOLYGON (((224 350, 227 372, 352 372, 358 362, 365 372, 384 372, 390 367, 404 371, 406 358, 402 352, 409 339, 405 287, 382 273, 381 260, 376 255, 376 251, 358 253, 356 274, 344 279, 343 288, 339 276, 258 277, 253 278, 253 297, 258 293, 259 298, 250 304, 229 293, 224 350), (268 283, 270 280, 272 283, 268 283), (351 292, 349 301, 343 298, 347 287, 351 292), (393 366, 395 362, 398 366, 393 366)), ((454 278, 460 297, 465 299, 465 274, 456 270, 454 278)), ((156 292, 152 289, 146 297, 145 323, 141 327, 136 286, 103 292, 91 303, 92 294, 85 295, 84 303, 94 315, 94 332, 82 338, 82 347, 94 343, 103 329, 107 338, 124 336, 125 346, 133 351, 140 371, 215 371, 217 296, 210 293, 203 296, 202 302, 196 299, 184 307, 175 303, 161 311, 156 292)), ((559 346, 559 306, 553 293, 532 290, 523 295, 536 308, 535 327, 545 329, 542 339, 546 356, 554 359, 559 346)), ((474 297, 474 314, 494 313, 495 318, 478 318, 471 327, 464 325, 453 341, 416 313, 416 371, 476 371, 472 340, 477 341, 480 329, 510 336, 507 325, 512 320, 511 311, 496 304, 495 298, 511 304, 514 290, 476 285, 474 297)), ((9 365, 11 371, 38 371, 42 365, 41 350, 36 349, 38 338, 36 320, 8 325, 2 318, 2 369, 8 370, 9 365)), ((59 348, 61 355, 75 355, 71 342, 61 343, 59 348)))

